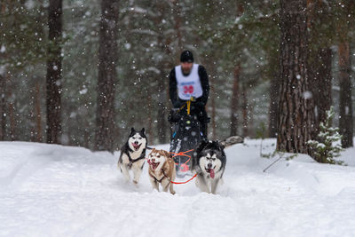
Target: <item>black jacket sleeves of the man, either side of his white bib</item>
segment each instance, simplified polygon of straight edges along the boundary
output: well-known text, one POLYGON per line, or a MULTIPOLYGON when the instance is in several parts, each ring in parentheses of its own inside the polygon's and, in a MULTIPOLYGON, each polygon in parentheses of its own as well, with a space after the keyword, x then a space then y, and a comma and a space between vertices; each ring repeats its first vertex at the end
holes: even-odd
MULTIPOLYGON (((201 106, 206 106, 207 100, 209 99, 209 76, 207 75, 205 67, 199 65, 198 68, 201 86, 203 94, 201 97, 196 98, 196 104, 200 104, 201 106)), ((175 67, 170 71, 170 84, 169 84, 169 92, 170 92, 170 100, 173 107, 181 107, 185 100, 179 99, 177 96, 177 77, 175 74, 175 67)))

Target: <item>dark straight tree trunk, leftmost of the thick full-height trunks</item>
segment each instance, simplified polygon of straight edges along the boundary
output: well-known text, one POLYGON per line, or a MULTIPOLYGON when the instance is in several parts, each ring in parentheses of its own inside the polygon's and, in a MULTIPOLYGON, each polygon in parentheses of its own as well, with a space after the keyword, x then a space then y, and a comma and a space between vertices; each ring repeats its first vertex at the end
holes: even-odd
POLYGON ((48 7, 49 45, 46 76, 47 143, 59 144, 61 135, 61 39, 62 1, 50 0, 48 7))

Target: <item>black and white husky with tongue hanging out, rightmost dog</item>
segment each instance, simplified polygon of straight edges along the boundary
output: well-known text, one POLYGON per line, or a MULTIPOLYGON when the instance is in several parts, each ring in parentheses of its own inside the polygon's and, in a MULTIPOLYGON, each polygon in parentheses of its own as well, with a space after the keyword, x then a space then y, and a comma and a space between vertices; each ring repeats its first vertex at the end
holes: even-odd
POLYGON ((217 187, 223 183, 226 156, 225 146, 218 141, 202 140, 193 152, 193 171, 196 172, 196 186, 202 192, 216 194, 217 187))

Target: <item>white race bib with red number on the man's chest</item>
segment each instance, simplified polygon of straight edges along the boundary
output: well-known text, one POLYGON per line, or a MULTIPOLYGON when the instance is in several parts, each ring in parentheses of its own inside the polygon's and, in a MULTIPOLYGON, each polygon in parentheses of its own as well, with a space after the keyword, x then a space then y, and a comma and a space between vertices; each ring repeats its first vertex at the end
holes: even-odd
POLYGON ((181 65, 175 67, 177 78, 177 94, 179 99, 189 100, 191 97, 199 98, 203 94, 199 75, 199 65, 193 64, 189 75, 183 75, 181 65))

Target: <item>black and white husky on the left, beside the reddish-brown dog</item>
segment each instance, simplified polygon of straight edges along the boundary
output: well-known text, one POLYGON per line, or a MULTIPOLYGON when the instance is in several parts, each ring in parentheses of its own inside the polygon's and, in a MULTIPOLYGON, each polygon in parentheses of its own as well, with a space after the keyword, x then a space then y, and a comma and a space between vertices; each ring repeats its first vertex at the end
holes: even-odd
POLYGON ((133 171, 133 184, 138 185, 146 158, 146 133, 145 129, 130 130, 127 142, 121 148, 118 168, 121 170, 127 182, 130 181, 129 170, 133 171))

